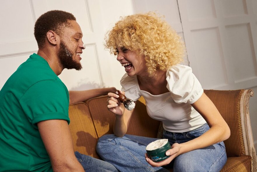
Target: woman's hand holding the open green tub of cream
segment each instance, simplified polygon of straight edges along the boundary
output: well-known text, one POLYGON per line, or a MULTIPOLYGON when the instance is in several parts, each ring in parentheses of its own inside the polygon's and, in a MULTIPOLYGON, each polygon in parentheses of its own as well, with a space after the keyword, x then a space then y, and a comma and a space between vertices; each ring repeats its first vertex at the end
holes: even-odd
POLYGON ((171 149, 166 151, 166 155, 170 157, 167 159, 164 159, 163 161, 160 162, 153 162, 148 156, 147 154, 145 154, 145 160, 153 167, 160 167, 160 166, 164 166, 164 165, 168 165, 169 163, 171 163, 171 161, 176 158, 179 155, 179 150, 181 148, 181 145, 178 143, 174 143, 171 146, 171 149))

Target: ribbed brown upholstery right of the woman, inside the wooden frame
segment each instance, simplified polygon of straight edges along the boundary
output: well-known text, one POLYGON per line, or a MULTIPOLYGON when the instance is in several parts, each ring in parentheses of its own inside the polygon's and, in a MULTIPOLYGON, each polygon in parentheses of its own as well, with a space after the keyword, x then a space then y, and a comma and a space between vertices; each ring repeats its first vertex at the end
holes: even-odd
POLYGON ((230 137, 224 141, 228 157, 245 155, 240 119, 240 99, 243 91, 204 90, 230 127, 230 137))

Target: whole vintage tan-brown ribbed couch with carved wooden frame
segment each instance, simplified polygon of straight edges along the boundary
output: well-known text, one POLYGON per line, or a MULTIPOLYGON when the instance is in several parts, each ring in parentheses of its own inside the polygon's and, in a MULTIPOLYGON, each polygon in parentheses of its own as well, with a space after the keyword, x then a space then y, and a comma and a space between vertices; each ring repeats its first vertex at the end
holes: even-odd
MULTIPOLYGON (((256 172, 256 150, 248 106, 253 91, 204 90, 204 92, 216 105, 231 130, 230 138, 224 141, 228 161, 221 171, 256 172)), ((113 133, 114 114, 107 110, 106 100, 107 96, 100 96, 69 106, 70 130, 75 151, 100 159, 95 151, 97 140, 105 134, 113 133)), ((162 123, 147 115, 145 101, 141 97, 136 103, 127 134, 160 138, 162 130, 162 123)))

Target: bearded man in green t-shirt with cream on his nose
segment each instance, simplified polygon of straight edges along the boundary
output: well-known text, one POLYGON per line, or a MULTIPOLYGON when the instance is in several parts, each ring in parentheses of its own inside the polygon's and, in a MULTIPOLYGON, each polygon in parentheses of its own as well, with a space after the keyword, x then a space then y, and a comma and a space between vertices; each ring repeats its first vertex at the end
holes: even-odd
POLYGON ((21 64, 0 91, 0 171, 117 171, 107 162, 74 154, 69 103, 116 90, 68 92, 58 78, 65 68, 82 68, 85 48, 76 18, 48 11, 35 23, 34 35, 37 54, 21 64))

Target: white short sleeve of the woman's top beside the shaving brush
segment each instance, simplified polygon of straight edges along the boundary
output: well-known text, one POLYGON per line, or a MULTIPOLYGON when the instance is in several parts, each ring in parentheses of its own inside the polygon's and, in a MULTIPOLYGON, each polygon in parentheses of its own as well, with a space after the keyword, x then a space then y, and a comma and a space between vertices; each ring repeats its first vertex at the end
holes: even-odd
POLYGON ((124 91, 125 96, 133 101, 137 101, 141 96, 135 77, 136 76, 130 77, 127 73, 125 73, 120 80, 120 84, 122 86, 121 91, 124 91))

